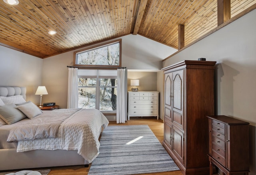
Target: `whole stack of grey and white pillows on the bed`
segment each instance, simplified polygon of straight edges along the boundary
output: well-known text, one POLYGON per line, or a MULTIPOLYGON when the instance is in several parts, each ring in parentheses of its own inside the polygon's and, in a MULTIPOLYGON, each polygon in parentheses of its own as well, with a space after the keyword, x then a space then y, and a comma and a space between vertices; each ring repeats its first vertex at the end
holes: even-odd
POLYGON ((42 110, 32 103, 25 101, 22 95, 0 97, 0 126, 12 124, 26 117, 32 119, 42 114, 42 110))

